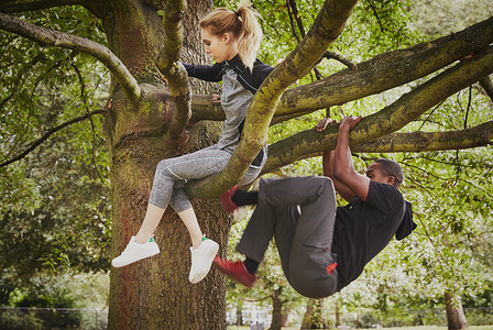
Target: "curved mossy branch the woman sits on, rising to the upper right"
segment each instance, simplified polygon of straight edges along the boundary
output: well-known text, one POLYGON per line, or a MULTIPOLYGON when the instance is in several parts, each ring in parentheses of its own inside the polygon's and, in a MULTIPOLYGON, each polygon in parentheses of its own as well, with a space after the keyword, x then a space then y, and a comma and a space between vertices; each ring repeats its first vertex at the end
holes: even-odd
POLYGON ((329 45, 342 32, 355 0, 327 0, 306 37, 264 80, 246 114, 240 144, 218 175, 189 183, 189 197, 218 196, 238 183, 267 140, 267 130, 281 95, 309 73, 329 45))

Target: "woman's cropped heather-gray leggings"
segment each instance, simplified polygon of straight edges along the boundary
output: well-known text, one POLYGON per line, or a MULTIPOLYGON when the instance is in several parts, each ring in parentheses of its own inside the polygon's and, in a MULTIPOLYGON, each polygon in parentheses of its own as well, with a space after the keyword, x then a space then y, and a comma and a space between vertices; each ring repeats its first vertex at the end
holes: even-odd
MULTIPOLYGON (((190 200, 183 189, 185 184, 221 172, 230 157, 230 152, 212 145, 179 157, 161 161, 156 167, 149 202, 163 209, 171 205, 177 213, 191 208, 190 200)), ((250 167, 239 184, 250 184, 259 176, 261 169, 262 167, 250 167)))

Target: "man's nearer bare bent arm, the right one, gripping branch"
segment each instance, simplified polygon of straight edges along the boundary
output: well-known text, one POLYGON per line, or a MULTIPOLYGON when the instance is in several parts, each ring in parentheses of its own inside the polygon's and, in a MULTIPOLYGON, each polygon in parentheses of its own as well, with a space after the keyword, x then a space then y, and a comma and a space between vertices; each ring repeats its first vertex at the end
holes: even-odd
POLYGON ((361 116, 348 116, 339 123, 339 136, 333 153, 333 177, 349 188, 361 200, 366 201, 370 178, 354 170, 351 150, 349 148, 349 132, 360 122, 361 116))

